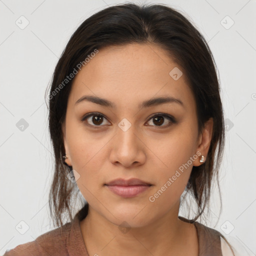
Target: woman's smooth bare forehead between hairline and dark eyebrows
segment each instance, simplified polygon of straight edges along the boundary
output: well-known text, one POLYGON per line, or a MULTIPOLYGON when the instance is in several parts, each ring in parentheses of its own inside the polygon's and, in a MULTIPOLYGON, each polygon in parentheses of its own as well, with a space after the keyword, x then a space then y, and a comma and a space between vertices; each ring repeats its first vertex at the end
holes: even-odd
POLYGON ((165 50, 154 44, 105 47, 76 74, 70 100, 74 104, 82 95, 90 94, 125 106, 127 102, 168 95, 182 98, 191 106, 193 95, 182 71, 165 50), (181 76, 176 79, 175 73, 181 76))

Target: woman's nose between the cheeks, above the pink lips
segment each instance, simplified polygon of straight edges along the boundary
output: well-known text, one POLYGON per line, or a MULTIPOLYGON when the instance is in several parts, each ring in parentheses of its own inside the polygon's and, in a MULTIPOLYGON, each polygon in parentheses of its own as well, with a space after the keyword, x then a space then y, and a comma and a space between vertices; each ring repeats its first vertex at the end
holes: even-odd
POLYGON ((125 167, 134 167, 145 162, 145 144, 143 139, 135 134, 131 127, 123 131, 117 126, 116 134, 112 139, 109 160, 114 164, 121 164, 125 167))

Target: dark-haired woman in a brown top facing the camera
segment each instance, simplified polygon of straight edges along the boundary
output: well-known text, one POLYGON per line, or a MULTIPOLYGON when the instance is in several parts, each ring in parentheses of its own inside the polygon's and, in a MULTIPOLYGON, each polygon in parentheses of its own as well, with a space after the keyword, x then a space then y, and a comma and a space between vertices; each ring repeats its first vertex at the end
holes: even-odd
POLYGON ((233 255, 196 221, 224 124, 213 56, 187 18, 160 4, 93 14, 68 41, 48 99, 58 227, 4 255, 233 255), (78 190, 86 202, 72 218, 78 190), (187 193, 192 219, 178 215, 187 193))

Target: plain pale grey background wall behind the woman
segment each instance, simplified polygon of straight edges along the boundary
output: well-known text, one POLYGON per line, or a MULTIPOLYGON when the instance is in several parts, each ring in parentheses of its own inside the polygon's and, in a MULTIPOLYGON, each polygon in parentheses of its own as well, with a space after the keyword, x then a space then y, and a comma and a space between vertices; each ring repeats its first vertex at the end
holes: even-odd
MULTIPOLYGON (((0 0, 1 255, 52 229, 48 191, 53 157, 45 89, 79 24, 107 5, 121 2, 125 1, 0 0)), ((144 2, 165 3, 180 10, 209 43, 220 76, 227 136, 220 170, 223 210, 218 218, 215 189, 206 224, 233 244, 239 241, 247 255, 256 255, 256 2, 144 2)))

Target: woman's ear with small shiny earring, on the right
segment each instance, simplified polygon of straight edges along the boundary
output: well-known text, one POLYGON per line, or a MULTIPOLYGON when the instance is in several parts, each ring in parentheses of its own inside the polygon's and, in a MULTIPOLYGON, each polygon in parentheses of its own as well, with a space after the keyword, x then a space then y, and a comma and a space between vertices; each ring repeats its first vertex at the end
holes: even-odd
POLYGON ((193 166, 199 166, 203 162, 205 162, 207 153, 210 147, 210 141, 211 141, 211 136, 212 136, 212 129, 213 129, 213 119, 210 117, 205 123, 204 123, 204 128, 199 136, 198 139, 198 145, 196 148, 196 152, 200 152, 199 157, 194 160, 193 166), (204 156, 204 161, 199 162, 201 155, 204 156))

